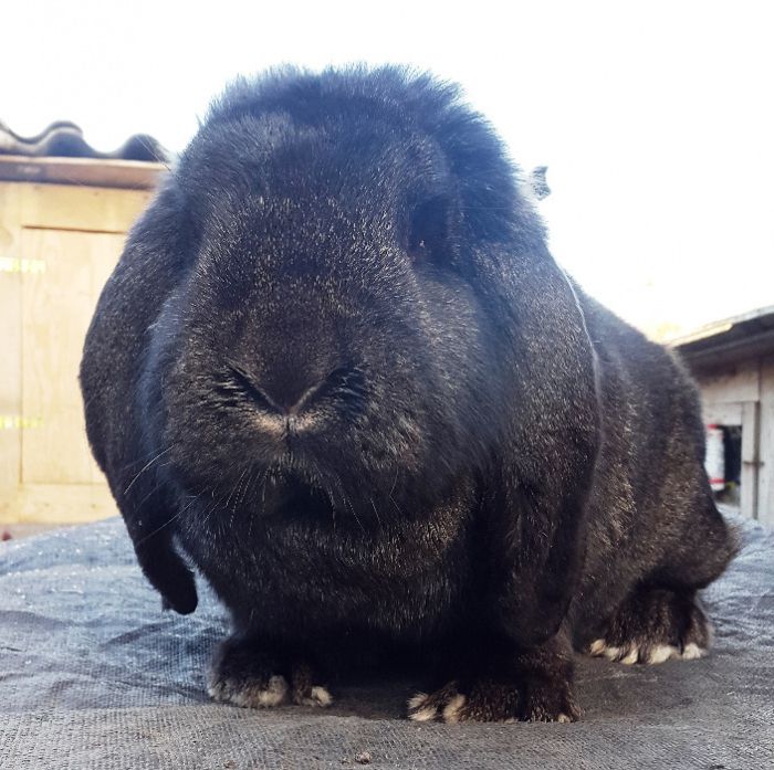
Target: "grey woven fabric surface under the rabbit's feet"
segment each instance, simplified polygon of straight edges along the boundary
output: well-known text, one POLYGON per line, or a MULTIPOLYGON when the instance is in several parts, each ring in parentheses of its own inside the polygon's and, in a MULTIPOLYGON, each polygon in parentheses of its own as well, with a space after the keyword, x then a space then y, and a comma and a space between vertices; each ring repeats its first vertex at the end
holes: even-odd
POLYGON ((411 683, 335 692, 320 711, 208 702, 226 633, 203 587, 163 613, 117 519, 0 547, 0 768, 774 768, 774 532, 705 601, 710 657, 623 666, 578 656, 574 725, 414 724, 411 683))

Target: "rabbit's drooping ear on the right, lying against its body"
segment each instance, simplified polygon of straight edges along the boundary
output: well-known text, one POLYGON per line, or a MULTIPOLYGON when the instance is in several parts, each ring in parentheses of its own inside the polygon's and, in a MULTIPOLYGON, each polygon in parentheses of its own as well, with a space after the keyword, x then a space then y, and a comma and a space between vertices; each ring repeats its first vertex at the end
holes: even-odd
POLYGON ((595 354, 553 260, 522 272, 513 414, 487 511, 498 578, 490 612, 523 646, 558 630, 577 589, 599 444, 595 354))

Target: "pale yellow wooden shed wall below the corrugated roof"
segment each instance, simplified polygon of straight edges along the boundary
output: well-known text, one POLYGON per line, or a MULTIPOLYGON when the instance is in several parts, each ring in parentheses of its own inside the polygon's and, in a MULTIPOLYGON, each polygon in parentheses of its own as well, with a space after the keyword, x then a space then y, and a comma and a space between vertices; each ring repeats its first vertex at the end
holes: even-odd
POLYGON ((0 523, 116 513, 77 383, 100 291, 148 190, 0 182, 0 523))

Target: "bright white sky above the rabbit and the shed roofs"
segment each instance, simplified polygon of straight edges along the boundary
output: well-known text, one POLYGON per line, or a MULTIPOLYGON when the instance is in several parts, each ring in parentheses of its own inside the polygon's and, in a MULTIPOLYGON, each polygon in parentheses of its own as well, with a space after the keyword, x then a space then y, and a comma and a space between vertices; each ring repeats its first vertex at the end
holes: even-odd
POLYGON ((431 70, 548 166, 553 252, 625 318, 774 305, 772 2, 4 0, 0 24, 0 119, 98 149, 179 150, 228 80, 283 62, 431 70))

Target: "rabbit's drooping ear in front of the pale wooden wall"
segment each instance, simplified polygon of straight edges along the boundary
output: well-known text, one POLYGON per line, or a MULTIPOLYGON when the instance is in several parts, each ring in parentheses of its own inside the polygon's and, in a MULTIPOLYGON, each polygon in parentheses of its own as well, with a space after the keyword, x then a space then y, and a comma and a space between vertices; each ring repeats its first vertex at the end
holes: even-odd
POLYGON ((143 571, 165 603, 187 613, 196 608, 196 586, 174 547, 175 503, 160 497, 156 467, 148 464, 148 422, 155 416, 139 398, 153 326, 195 249, 184 212, 169 180, 134 226, 86 335, 81 388, 94 456, 143 571))

